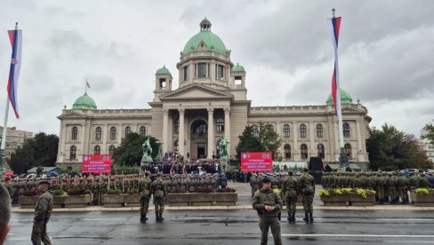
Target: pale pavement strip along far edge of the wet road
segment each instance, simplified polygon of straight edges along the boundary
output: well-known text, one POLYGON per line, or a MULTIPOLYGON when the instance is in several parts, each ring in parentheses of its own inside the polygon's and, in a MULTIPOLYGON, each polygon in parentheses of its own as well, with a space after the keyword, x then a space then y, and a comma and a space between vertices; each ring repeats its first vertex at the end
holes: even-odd
MULTIPOLYGON (((165 210, 244 210, 252 208, 251 189, 248 183, 233 183, 228 182, 228 186, 237 190, 238 202, 237 206, 165 206, 165 210)), ((315 197, 313 201, 313 208, 315 210, 430 210, 433 211, 434 207, 416 207, 413 205, 374 205, 374 206, 323 206, 322 202, 317 196, 317 192, 321 190, 321 186, 316 186, 315 197)), ((102 206, 89 206, 86 208, 61 208, 53 209, 54 212, 83 212, 83 211, 139 211, 139 207, 122 207, 122 208, 105 208, 102 206)), ((302 210, 302 206, 297 205, 297 209, 302 210)), ((152 201, 149 203, 149 210, 154 210, 152 201)), ((284 207, 285 210, 285 207, 284 207)), ((34 212, 34 209, 20 209, 19 206, 12 207, 12 212, 27 213, 34 212)))

